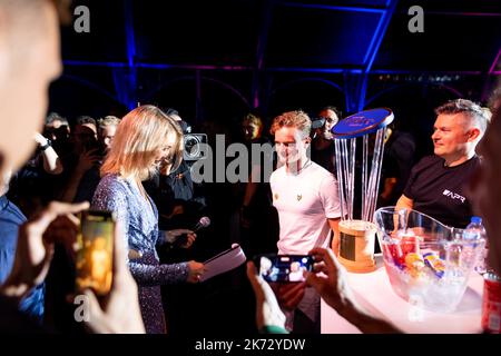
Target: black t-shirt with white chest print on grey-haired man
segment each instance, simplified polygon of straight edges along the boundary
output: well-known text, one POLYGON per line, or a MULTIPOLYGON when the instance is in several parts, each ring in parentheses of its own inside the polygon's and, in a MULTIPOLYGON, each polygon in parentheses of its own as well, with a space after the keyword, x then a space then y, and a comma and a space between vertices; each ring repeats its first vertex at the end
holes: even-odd
POLYGON ((464 228, 472 216, 465 185, 479 168, 480 158, 445 167, 438 156, 424 157, 412 168, 404 195, 414 201, 413 208, 439 221, 464 228))

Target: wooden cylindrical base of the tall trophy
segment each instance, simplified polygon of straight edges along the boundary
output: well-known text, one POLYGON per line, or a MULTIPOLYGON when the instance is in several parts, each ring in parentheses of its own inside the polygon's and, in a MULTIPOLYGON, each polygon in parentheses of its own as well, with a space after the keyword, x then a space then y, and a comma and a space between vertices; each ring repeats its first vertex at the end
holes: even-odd
POLYGON ((363 220, 340 221, 338 261, 352 273, 375 270, 374 243, 376 226, 363 220))

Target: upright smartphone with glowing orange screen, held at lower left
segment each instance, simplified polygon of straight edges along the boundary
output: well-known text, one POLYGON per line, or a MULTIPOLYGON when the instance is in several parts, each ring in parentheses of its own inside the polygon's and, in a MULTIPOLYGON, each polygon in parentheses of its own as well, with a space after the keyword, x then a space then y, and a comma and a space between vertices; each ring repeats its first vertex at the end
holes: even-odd
POLYGON ((77 237, 76 289, 92 289, 106 296, 111 289, 115 217, 111 211, 87 210, 80 214, 77 237))

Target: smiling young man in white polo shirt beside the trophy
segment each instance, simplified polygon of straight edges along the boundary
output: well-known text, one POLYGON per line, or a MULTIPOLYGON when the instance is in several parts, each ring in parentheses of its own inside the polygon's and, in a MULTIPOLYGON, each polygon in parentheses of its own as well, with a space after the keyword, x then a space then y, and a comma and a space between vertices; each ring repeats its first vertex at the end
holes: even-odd
MULTIPOLYGON (((272 123, 281 167, 272 174, 269 184, 279 218, 281 255, 306 255, 314 247, 328 247, 331 231, 332 246, 338 241, 337 181, 307 155, 311 127, 303 111, 285 112, 272 123)), ((313 288, 307 288, 297 308, 288 313, 287 327, 296 333, 320 333, 320 296, 313 288)))

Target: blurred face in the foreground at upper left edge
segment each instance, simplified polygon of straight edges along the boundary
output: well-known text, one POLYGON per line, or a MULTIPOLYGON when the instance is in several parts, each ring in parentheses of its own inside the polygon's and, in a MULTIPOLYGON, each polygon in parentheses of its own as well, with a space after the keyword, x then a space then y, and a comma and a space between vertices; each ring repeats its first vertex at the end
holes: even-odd
MULTIPOLYGON (((61 72, 59 24, 50 1, 33 8, 0 3, 0 169, 17 170, 35 149, 48 88, 61 72), (10 9, 10 10, 8 10, 10 9)), ((26 4, 24 4, 26 6, 26 4)))

